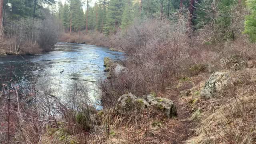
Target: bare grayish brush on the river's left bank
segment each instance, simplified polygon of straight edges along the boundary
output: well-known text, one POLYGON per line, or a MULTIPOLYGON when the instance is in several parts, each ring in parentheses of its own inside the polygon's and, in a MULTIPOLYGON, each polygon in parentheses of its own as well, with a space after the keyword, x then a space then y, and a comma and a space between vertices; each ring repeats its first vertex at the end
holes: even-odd
POLYGON ((2 53, 40 54, 50 51, 57 42, 58 27, 52 16, 44 20, 22 18, 5 20, 4 34, 0 40, 2 53))

